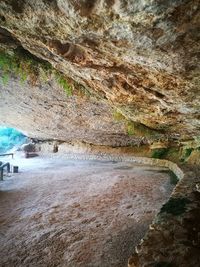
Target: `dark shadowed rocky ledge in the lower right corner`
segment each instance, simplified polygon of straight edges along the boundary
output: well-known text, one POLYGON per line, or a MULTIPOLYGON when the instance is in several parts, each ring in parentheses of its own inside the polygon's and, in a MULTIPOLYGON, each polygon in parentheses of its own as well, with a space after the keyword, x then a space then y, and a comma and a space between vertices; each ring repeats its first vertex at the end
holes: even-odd
POLYGON ((183 179, 129 259, 129 267, 199 265, 199 167, 182 167, 183 179))

